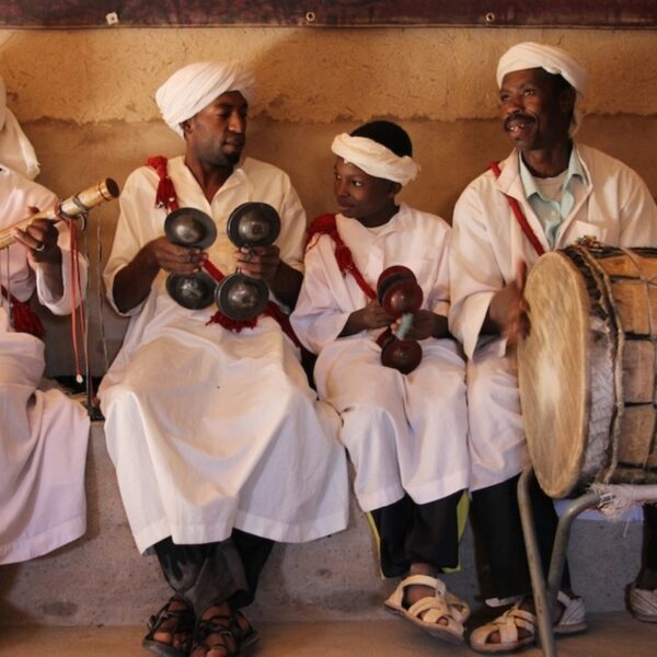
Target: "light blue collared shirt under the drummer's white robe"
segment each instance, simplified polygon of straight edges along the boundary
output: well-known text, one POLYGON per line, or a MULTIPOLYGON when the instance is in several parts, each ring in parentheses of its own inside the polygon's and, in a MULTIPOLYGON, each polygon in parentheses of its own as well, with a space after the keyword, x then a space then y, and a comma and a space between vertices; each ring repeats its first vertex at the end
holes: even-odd
POLYGON ((588 183, 586 172, 581 165, 579 155, 577 154, 577 149, 573 147, 573 150, 570 151, 568 169, 565 171, 558 200, 552 200, 543 197, 537 185, 537 180, 529 172, 529 169, 527 169, 527 165, 522 161, 522 155, 520 153, 518 153, 518 158, 520 160, 520 180, 522 181, 525 196, 527 197, 527 200, 529 201, 529 205, 531 205, 533 211, 537 214, 539 221, 543 226, 543 230, 545 231, 545 237, 548 238, 550 246, 554 249, 554 244, 556 243, 556 233, 558 232, 564 219, 573 209, 573 204, 575 203, 575 196, 573 194, 572 186, 575 184, 586 185, 588 183))

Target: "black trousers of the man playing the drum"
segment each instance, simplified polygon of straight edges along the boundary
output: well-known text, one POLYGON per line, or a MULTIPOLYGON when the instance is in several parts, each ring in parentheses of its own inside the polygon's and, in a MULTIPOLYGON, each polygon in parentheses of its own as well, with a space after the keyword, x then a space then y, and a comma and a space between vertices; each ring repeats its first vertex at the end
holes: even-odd
MULTIPOLYGON (((531 578, 518 508, 519 479, 520 475, 517 475, 495 486, 472 493, 475 526, 483 542, 491 568, 492 584, 498 598, 525 596, 531 592, 531 578)), ((535 480, 530 486, 530 499, 539 552, 546 577, 558 516, 552 499, 541 491, 535 480)), ((570 588, 567 564, 564 568, 562 588, 570 588)))

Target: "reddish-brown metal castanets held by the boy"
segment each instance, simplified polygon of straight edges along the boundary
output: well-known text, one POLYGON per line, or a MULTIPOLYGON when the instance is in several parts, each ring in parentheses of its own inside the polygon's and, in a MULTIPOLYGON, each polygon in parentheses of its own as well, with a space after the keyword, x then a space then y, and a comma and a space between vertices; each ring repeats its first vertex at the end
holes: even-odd
POLYGON ((402 318, 402 326, 394 335, 384 332, 381 342, 381 364, 411 373, 422 361, 422 347, 415 339, 405 339, 413 315, 422 308, 424 295, 415 274, 408 267, 395 265, 384 269, 377 281, 377 299, 393 319, 402 318))

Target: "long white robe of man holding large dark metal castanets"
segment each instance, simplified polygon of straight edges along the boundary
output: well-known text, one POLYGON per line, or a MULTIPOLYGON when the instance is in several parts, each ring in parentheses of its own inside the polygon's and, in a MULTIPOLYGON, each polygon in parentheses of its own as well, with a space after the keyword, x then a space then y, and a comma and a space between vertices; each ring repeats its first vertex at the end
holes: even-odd
MULTIPOLYGON (((218 239, 210 261, 234 270, 226 221, 238 205, 268 203, 281 218, 281 258, 301 268, 306 216, 288 176, 246 159, 210 204, 185 166, 169 162, 181 207, 210 215, 218 239)), ((153 207, 158 176, 138 169, 120 197, 105 270, 110 300, 116 274, 163 234, 153 207)), ((232 333, 206 325, 216 307, 186 310, 166 293, 165 272, 134 315, 100 397, 110 456, 139 551, 222 541, 235 527, 276 541, 310 541, 348 520, 346 458, 339 419, 310 389, 299 354, 278 323, 232 333)))

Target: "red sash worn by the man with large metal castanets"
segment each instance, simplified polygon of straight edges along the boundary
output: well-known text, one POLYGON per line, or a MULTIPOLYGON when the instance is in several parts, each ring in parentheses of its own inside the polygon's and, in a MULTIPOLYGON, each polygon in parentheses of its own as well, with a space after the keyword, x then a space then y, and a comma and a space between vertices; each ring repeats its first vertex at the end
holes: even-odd
MULTIPOLYGON (((169 176, 169 172, 166 170, 166 162, 168 160, 163 155, 155 155, 154 158, 149 158, 146 161, 149 166, 157 171, 158 177, 160 178, 160 183, 158 184, 158 189, 155 192, 155 207, 165 208, 172 212, 177 210, 180 206, 173 181, 169 176)), ((220 283, 226 278, 226 275, 209 261, 205 261, 203 263, 203 268, 217 283, 220 283)), ((277 303, 274 303, 272 300, 267 301, 267 306, 265 306, 263 314, 276 320, 283 332, 295 343, 295 345, 297 345, 297 347, 301 346, 299 338, 295 335, 289 316, 277 303)), ((227 318, 220 310, 217 310, 217 312, 208 320, 207 324, 219 324, 220 326, 223 326, 233 333, 240 333, 242 328, 253 328, 256 326, 257 318, 253 318, 252 320, 231 320, 230 318, 227 318)))

